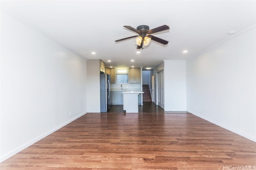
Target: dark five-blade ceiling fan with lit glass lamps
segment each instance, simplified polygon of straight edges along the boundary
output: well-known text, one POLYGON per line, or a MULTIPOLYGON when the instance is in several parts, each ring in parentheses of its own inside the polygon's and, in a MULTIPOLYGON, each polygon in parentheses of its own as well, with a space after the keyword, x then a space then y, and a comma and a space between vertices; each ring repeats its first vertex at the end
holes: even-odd
POLYGON ((163 45, 168 44, 168 41, 165 41, 164 39, 160 39, 158 37, 150 35, 150 34, 153 34, 153 33, 157 33, 157 32, 160 32, 160 31, 170 29, 170 27, 168 25, 162 25, 160 27, 156 27, 156 28, 153 28, 153 29, 149 29, 148 25, 140 25, 140 26, 137 27, 137 29, 135 29, 134 27, 128 26, 128 25, 124 25, 124 27, 138 33, 138 35, 118 39, 115 42, 137 37, 136 40, 135 40, 136 44, 137 44, 137 49, 141 49, 143 47, 143 45, 144 46, 148 45, 151 40, 156 41, 158 43, 161 43, 163 45))

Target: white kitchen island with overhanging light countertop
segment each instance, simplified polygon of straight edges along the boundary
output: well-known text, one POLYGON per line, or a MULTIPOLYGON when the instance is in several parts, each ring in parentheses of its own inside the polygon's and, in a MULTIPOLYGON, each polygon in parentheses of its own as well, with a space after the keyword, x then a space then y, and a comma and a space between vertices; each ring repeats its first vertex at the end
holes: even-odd
POLYGON ((139 113, 139 107, 138 107, 138 95, 140 91, 126 91, 123 92, 123 102, 124 102, 124 110, 126 113, 139 113))

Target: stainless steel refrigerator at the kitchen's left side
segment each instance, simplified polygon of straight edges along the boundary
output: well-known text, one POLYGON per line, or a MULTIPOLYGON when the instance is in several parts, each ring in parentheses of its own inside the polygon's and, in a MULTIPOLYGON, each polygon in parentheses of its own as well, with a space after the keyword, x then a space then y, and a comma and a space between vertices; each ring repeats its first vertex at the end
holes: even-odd
POLYGON ((110 75, 100 74, 100 112, 110 109, 110 75))

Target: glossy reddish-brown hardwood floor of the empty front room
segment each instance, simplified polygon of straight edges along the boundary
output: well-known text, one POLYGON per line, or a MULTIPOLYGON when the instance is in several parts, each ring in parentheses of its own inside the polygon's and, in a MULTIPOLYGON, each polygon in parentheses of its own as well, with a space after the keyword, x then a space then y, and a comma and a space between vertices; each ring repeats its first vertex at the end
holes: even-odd
POLYGON ((255 142, 190 113, 87 113, 5 160, 0 169, 245 170, 249 166, 256 169, 255 142))

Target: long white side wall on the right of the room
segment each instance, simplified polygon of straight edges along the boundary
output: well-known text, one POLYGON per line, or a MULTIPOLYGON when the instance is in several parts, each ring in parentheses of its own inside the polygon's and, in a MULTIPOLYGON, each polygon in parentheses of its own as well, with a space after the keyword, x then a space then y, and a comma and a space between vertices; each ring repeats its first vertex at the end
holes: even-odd
POLYGON ((255 27, 186 62, 187 111, 256 141, 255 27))

